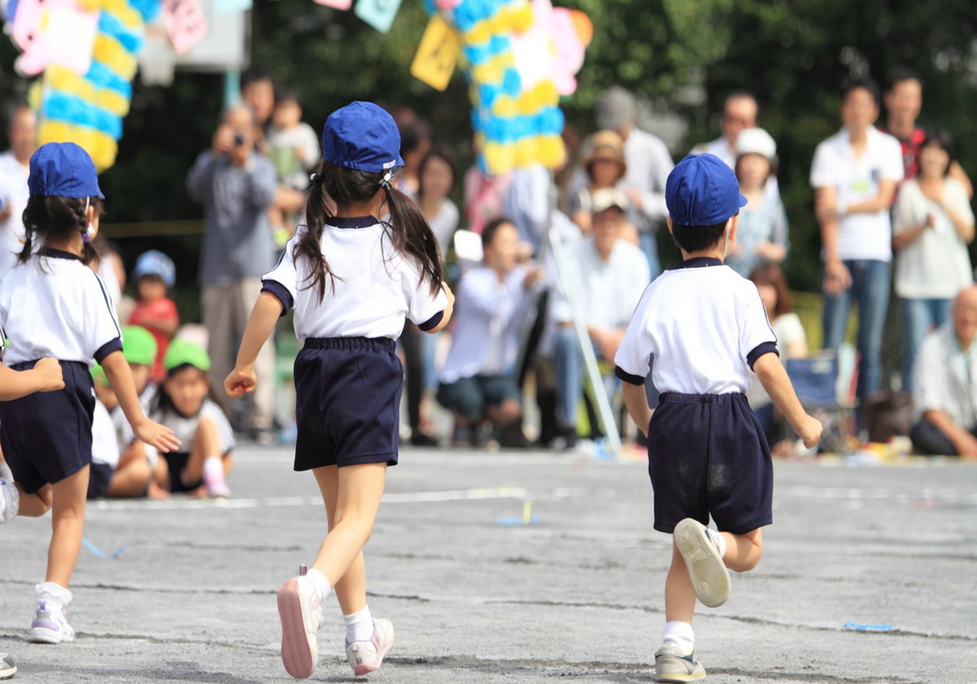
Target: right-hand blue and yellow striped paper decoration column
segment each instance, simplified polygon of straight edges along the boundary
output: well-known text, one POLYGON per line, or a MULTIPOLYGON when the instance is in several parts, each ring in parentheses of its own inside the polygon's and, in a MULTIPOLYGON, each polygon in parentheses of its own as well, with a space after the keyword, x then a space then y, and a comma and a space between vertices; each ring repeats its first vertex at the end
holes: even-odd
POLYGON ((555 10, 550 0, 425 0, 425 7, 460 37, 483 170, 500 175, 563 163, 560 96, 575 89, 572 74, 568 81, 565 72, 579 68, 586 45, 581 31, 568 35, 566 26, 585 25, 586 18, 555 21, 569 11, 555 10), (575 48, 568 50, 568 39, 575 48), (561 63, 570 53, 578 53, 579 63, 561 63))

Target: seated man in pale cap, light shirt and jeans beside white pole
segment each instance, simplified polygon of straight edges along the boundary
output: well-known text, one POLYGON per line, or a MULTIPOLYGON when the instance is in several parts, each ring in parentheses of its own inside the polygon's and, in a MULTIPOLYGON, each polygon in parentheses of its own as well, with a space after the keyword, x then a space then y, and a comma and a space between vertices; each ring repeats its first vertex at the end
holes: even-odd
MULTIPOLYGON (((627 224, 627 197, 616 188, 595 191, 590 235, 568 249, 569 278, 598 359, 614 361, 627 321, 651 282, 641 250, 620 238, 627 224)), ((556 370, 557 419, 567 446, 576 440, 576 406, 583 391, 583 355, 573 329, 565 292, 551 295, 550 321, 555 321, 553 363, 556 370)))

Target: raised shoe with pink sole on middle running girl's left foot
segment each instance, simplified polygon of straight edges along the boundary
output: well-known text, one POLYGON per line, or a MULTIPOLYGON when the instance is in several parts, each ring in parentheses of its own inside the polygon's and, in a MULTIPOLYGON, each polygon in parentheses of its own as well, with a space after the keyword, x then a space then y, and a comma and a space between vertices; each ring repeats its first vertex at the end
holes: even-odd
POLYGON ((312 579, 292 577, 278 589, 281 619, 281 662, 296 679, 307 679, 319 663, 322 602, 312 579))

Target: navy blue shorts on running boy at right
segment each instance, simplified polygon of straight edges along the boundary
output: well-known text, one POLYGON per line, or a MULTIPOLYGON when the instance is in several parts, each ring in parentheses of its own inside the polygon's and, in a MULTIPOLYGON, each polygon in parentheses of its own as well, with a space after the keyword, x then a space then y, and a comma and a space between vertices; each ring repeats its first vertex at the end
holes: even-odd
POLYGON ((742 394, 677 394, 658 400, 648 430, 655 529, 684 518, 745 534, 773 522, 774 464, 763 427, 742 394))

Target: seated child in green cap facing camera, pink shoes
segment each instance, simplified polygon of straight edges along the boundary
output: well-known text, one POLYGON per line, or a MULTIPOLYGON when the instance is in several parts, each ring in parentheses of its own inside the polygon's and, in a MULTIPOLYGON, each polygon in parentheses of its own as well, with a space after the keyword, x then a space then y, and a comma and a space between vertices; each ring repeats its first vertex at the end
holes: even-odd
POLYGON ((234 466, 234 432, 220 406, 210 400, 210 357, 201 347, 174 340, 163 360, 166 378, 150 406, 153 419, 171 428, 183 444, 162 454, 156 484, 168 492, 227 497, 234 466))

